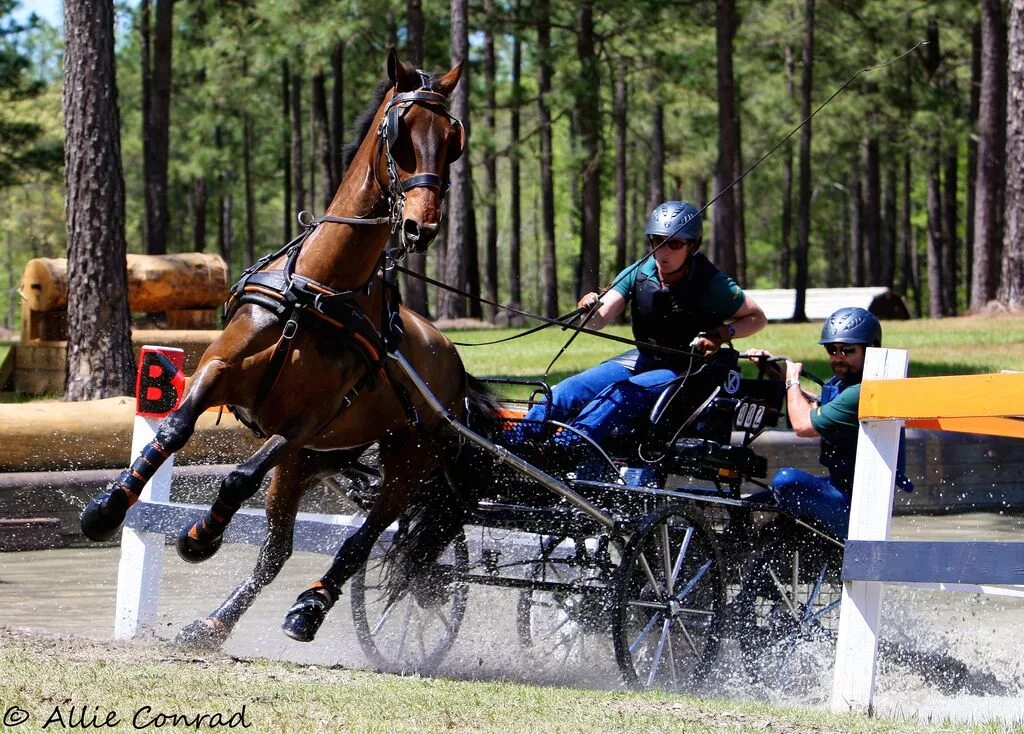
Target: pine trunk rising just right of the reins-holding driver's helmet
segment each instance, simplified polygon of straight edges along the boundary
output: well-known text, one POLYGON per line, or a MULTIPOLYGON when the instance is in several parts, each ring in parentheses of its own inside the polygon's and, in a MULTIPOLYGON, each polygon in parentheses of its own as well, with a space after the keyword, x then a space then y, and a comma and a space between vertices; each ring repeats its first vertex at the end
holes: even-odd
MULTIPOLYGON (((732 38, 735 32, 735 1, 718 0, 716 48, 718 53, 718 163, 715 167, 715 195, 719 196, 735 178, 736 88, 732 74, 732 38)), ((736 275, 736 198, 732 191, 720 197, 712 210, 714 219, 715 264, 723 272, 736 275)))

